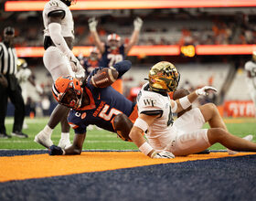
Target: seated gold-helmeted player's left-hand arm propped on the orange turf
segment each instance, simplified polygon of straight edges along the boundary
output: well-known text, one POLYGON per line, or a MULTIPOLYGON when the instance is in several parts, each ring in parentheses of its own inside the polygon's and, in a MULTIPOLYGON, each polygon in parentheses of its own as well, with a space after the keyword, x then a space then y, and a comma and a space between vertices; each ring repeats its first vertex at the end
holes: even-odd
POLYGON ((158 116, 159 115, 149 116, 140 114, 133 124, 133 128, 129 134, 129 137, 142 153, 151 158, 175 158, 173 153, 169 153, 167 151, 156 152, 143 137, 143 132, 146 132, 148 126, 151 125, 155 121, 155 118, 158 116))

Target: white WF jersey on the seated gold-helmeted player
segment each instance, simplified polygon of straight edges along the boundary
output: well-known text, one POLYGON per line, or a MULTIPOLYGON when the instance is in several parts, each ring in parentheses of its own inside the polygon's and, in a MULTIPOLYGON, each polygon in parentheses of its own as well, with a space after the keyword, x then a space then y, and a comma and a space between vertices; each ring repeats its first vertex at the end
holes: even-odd
POLYGON ((149 127, 145 133, 149 143, 155 149, 163 149, 170 143, 176 135, 176 127, 173 126, 173 114, 171 111, 171 100, 168 94, 148 90, 148 83, 144 84, 137 96, 138 112, 148 113, 150 111, 158 111, 161 114, 159 118, 149 127))

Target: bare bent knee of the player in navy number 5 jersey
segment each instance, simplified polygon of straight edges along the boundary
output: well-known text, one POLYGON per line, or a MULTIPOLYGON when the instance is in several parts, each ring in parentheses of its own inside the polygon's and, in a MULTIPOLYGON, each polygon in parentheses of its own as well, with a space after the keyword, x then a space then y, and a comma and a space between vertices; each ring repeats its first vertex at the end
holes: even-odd
POLYGON ((125 115, 125 114, 118 114, 115 116, 113 120, 113 126, 117 135, 123 140, 132 142, 131 138, 129 137, 129 133, 133 127, 133 122, 125 115))

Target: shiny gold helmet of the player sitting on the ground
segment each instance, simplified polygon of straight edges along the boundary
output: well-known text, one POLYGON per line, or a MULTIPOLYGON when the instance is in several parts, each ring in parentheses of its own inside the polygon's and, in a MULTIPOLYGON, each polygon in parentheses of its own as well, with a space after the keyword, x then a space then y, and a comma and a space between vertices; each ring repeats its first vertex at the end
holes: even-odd
POLYGON ((156 63, 149 71, 149 87, 159 92, 175 91, 179 82, 179 72, 167 61, 156 63))

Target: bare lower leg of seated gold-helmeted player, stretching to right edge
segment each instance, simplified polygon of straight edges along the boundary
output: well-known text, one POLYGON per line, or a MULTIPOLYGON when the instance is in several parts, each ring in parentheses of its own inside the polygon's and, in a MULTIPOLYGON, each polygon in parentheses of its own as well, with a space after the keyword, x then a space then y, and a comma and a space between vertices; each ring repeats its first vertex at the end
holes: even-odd
POLYGON ((208 129, 208 141, 210 144, 221 143, 234 151, 256 152, 256 143, 232 135, 221 128, 208 129))

